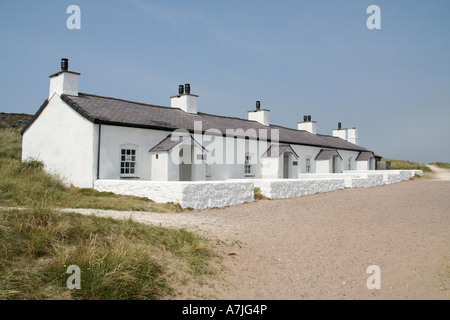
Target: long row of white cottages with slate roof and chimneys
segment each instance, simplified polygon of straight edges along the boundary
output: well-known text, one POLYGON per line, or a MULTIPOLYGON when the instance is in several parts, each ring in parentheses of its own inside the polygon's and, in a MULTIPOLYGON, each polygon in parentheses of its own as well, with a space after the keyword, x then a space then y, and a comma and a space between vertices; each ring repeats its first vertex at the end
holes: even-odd
POLYGON ((332 136, 321 135, 310 116, 296 129, 274 125, 259 101, 248 119, 202 113, 189 84, 179 86, 170 107, 85 94, 79 76, 62 59, 48 99, 22 130, 23 160, 43 161, 77 187, 96 180, 297 179, 376 166, 355 128, 339 124, 332 136))

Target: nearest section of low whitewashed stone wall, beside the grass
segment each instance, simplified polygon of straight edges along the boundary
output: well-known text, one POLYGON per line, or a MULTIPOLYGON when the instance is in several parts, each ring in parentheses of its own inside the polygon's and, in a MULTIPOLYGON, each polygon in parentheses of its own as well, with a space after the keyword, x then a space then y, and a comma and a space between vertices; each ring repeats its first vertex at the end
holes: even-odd
POLYGON ((254 201, 251 181, 136 181, 97 180, 94 189, 102 192, 146 197, 158 203, 174 202, 182 208, 206 209, 254 201))

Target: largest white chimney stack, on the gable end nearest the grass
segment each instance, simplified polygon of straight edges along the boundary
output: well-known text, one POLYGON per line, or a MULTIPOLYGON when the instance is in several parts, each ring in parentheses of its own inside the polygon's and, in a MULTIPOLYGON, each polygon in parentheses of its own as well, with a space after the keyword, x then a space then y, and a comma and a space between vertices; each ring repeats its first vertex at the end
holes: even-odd
POLYGON ((61 71, 50 76, 49 98, 55 93, 78 96, 78 72, 69 71, 69 60, 61 59, 61 71))

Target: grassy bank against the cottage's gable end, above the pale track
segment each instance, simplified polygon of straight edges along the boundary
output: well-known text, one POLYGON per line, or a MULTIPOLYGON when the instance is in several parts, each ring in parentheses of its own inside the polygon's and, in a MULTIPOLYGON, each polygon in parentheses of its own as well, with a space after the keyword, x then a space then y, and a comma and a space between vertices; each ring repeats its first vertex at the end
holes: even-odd
POLYGON ((45 172, 42 162, 22 162, 21 145, 17 130, 0 130, 0 206, 183 211, 178 204, 157 204, 147 198, 67 187, 59 177, 45 172))

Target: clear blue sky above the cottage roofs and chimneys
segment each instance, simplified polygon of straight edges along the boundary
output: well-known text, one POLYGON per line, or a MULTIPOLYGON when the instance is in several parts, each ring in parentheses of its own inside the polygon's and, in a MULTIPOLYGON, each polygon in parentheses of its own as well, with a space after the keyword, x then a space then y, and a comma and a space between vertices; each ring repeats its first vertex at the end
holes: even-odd
POLYGON ((66 57, 80 92, 168 106, 190 83, 202 112, 246 118, 260 100, 274 124, 308 114, 382 156, 450 162, 449 15, 444 0, 2 0, 0 111, 35 113, 66 57))

